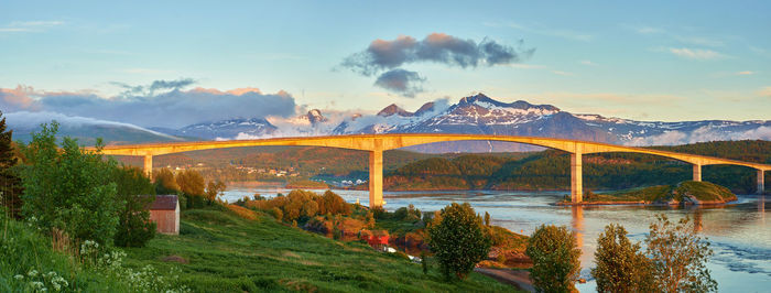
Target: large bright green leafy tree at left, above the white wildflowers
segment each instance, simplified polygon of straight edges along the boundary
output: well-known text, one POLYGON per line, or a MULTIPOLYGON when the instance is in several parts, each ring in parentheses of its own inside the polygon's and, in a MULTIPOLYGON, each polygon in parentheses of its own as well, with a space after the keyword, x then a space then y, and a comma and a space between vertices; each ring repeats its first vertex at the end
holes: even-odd
POLYGON ((65 137, 59 151, 58 123, 41 127, 29 145, 20 145, 26 160, 21 169, 22 213, 45 230, 57 228, 75 239, 111 245, 122 207, 116 200, 116 184, 106 174, 117 163, 104 160, 100 140, 96 152, 87 152, 65 137))

